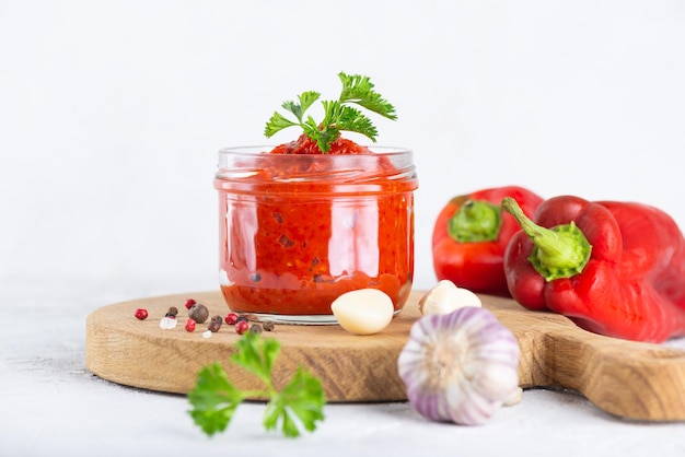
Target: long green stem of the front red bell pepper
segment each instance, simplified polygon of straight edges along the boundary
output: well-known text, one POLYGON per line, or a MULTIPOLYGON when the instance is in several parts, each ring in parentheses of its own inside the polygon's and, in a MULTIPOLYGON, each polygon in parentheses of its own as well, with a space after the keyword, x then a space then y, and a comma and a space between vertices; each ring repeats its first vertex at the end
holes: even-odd
POLYGON ((531 221, 511 197, 504 197, 502 210, 516 220, 535 245, 529 261, 546 281, 571 278, 585 268, 592 246, 574 222, 545 228, 531 221))

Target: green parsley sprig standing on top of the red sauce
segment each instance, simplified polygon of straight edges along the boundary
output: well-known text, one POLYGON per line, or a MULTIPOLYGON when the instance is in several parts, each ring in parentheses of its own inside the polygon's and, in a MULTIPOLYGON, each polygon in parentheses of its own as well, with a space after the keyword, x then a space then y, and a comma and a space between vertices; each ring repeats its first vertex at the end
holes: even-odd
POLYGON ((392 120, 397 119, 395 107, 373 90, 374 85, 368 77, 340 72, 338 78, 342 83, 340 96, 336 101, 322 101, 324 119, 321 122, 315 121, 312 116, 304 117, 304 113, 321 97, 318 92, 306 91, 298 95, 298 102, 287 101, 281 105, 294 115, 297 120, 288 119, 275 112, 266 124, 264 134, 271 138, 285 128, 300 126, 323 153, 330 150, 330 145, 340 137, 342 130, 361 133, 375 142, 378 130, 373 122, 350 104, 359 105, 392 120))

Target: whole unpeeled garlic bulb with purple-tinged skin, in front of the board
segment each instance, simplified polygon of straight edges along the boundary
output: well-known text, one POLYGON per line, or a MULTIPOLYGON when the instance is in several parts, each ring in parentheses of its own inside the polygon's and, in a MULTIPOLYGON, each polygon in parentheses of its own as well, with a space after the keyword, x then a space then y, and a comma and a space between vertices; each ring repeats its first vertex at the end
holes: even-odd
POLYGON ((438 422, 479 425, 519 391, 521 349, 485 308, 419 318, 397 360, 411 406, 438 422))

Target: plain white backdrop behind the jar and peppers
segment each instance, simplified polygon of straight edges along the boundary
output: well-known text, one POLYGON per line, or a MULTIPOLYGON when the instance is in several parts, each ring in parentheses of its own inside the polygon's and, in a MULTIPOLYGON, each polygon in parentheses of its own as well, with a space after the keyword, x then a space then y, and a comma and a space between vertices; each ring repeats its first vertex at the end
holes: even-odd
POLYGON ((339 71, 397 107, 379 143, 416 152, 417 288, 439 210, 483 187, 685 226, 684 57, 677 0, 3 0, 0 281, 214 288, 217 150, 339 71))

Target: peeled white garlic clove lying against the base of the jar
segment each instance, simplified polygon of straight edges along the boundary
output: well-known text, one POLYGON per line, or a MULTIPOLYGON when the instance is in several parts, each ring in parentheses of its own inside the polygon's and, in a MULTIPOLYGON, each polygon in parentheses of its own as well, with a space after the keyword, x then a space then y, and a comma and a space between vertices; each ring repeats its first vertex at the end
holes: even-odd
POLYGON ((338 324, 350 333, 373 335, 387 327, 395 307, 386 293, 376 289, 360 289, 338 296, 330 304, 330 310, 338 324))

